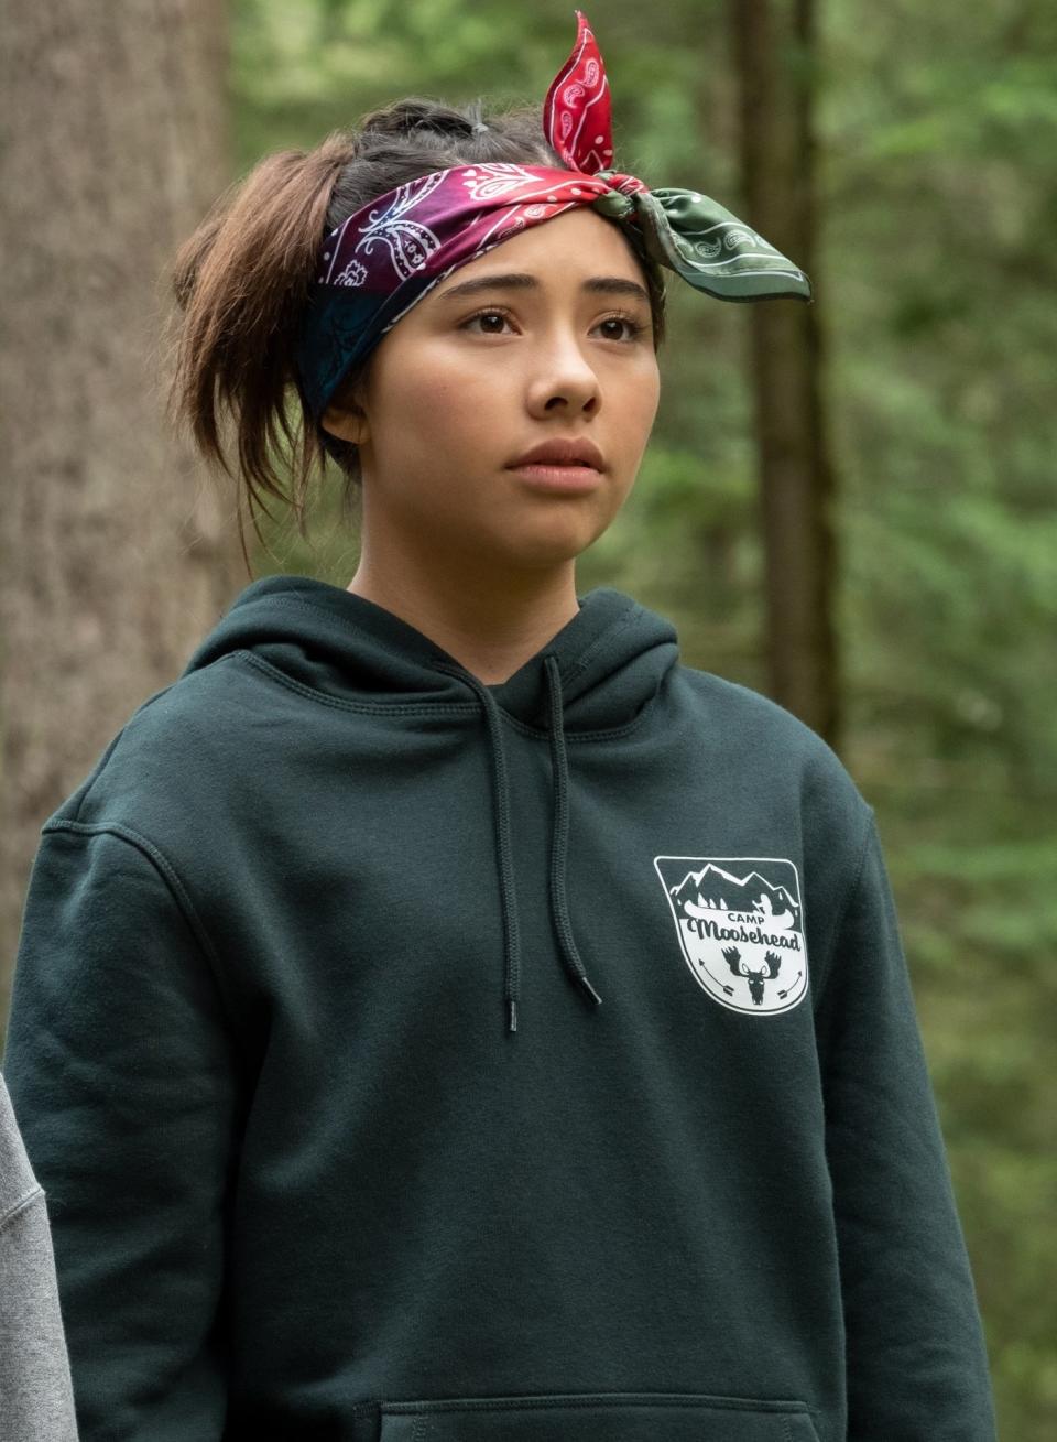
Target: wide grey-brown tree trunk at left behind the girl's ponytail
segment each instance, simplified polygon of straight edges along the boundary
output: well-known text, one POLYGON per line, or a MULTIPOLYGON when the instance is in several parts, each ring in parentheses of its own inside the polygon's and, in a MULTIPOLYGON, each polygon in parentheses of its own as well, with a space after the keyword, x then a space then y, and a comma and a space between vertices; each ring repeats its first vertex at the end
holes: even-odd
POLYGON ((163 415, 169 261, 231 179, 226 7, 0 14, 3 1021, 40 825, 245 568, 235 497, 163 415))

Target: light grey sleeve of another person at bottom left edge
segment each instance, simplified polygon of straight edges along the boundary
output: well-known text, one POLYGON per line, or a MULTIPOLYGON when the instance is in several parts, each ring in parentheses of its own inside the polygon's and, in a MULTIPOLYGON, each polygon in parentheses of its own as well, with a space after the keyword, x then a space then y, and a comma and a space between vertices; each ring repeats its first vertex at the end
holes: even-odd
POLYGON ((0 1074, 0 1438, 78 1442, 52 1233, 0 1074))

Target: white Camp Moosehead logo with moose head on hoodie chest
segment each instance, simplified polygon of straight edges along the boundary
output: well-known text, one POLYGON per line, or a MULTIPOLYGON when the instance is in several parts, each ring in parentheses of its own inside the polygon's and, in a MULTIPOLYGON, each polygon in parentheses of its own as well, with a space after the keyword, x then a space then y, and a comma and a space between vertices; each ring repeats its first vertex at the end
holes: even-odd
POLYGON ((800 878, 780 857, 655 857, 691 975, 753 1017, 790 1011, 808 989, 800 878))

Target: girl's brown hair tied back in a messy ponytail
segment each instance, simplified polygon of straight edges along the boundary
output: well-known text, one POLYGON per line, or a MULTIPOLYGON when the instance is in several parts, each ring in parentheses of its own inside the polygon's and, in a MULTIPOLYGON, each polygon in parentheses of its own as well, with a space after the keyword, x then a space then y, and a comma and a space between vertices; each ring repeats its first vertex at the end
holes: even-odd
MULTIPOLYGON (((265 156, 225 190, 176 252, 172 288, 179 313, 173 316, 167 414, 172 424, 190 431, 206 460, 232 476, 221 440, 221 411, 226 410, 260 539, 254 502, 271 515, 261 492, 287 502, 304 535, 307 489, 327 456, 345 476, 343 506, 353 493, 359 496, 358 447, 313 421, 293 365, 293 342, 323 236, 408 180, 489 162, 567 169, 547 143, 538 104, 485 117, 480 101, 466 107, 417 95, 394 101, 366 114, 358 131, 332 131, 314 150, 265 156), (487 130, 474 131, 480 121, 487 130), (275 469, 275 451, 290 473, 290 492, 275 469)), ((659 349, 663 278, 653 261, 630 248, 647 281, 659 349)), ((352 405, 369 365, 371 355, 346 373, 332 404, 352 405)), ((239 535, 251 570, 241 505, 239 535)))

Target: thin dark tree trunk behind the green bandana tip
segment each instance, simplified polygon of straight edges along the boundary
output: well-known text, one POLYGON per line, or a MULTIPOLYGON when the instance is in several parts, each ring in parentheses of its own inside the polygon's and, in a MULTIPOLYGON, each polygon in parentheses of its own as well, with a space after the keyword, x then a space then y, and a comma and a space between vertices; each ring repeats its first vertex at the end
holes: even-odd
POLYGON ((833 474, 822 399, 812 131, 813 0, 730 0, 740 74, 746 219, 812 280, 815 303, 751 311, 751 378, 767 574, 770 692, 833 748, 833 474))

